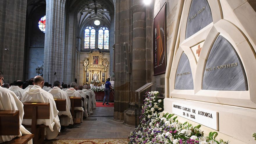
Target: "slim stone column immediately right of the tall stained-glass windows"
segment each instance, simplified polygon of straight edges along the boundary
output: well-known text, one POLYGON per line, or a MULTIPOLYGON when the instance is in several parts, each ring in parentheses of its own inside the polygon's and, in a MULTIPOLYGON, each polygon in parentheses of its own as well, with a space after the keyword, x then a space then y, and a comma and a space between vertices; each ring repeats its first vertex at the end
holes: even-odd
POLYGON ((109 75, 112 76, 113 73, 113 58, 114 58, 114 51, 113 51, 113 45, 115 44, 115 15, 110 15, 110 33, 109 33, 109 75))

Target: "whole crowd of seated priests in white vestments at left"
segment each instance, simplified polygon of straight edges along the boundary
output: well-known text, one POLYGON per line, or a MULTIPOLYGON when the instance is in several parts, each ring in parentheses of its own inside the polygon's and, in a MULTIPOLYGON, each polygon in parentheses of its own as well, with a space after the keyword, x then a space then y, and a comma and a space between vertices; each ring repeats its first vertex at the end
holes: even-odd
MULTIPOLYGON (((23 134, 31 134, 31 129, 26 129, 24 126, 31 125, 31 119, 24 119, 24 106, 27 103, 49 103, 50 113, 49 119, 38 119, 38 125, 45 125, 45 138, 54 139, 58 136, 61 129, 74 123, 83 122, 83 118, 92 114, 92 109, 95 109, 96 101, 95 94, 92 90, 88 90, 88 86, 77 86, 77 83, 72 82, 69 85, 54 81, 53 86, 45 82, 43 77, 36 76, 22 82, 16 80, 9 84, 4 82, 4 75, 0 71, 0 110, 19 110, 20 116, 20 135, 17 136, 0 136, 0 143, 11 141, 15 137, 20 137, 23 134), (81 107, 74 107, 74 110, 80 110, 80 113, 71 114, 72 97, 81 97, 81 107), (56 99, 64 99, 66 102, 66 111, 58 111, 56 99), (10 102, 6 102, 10 101, 10 102), (65 117, 63 117, 63 115, 65 117), (59 118, 60 117, 60 118, 59 118), (76 121, 76 122, 74 122, 76 121), (77 122, 78 121, 78 122, 77 122)), ((1 126, 0 126, 1 127, 1 126)), ((32 143, 32 141, 29 141, 32 143)))

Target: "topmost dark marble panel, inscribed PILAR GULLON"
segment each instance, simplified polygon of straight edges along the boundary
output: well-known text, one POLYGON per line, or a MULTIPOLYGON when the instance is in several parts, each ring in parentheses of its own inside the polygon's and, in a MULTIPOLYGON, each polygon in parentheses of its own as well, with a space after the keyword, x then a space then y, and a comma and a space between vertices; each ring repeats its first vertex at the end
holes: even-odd
POLYGON ((211 9, 207 0, 193 0, 189 9, 186 38, 212 22, 211 9))

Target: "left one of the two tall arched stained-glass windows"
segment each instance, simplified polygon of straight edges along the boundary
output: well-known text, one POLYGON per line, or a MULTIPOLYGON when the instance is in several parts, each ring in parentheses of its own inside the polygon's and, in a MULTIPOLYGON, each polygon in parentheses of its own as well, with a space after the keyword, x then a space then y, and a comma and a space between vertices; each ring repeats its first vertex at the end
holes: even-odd
POLYGON ((84 48, 85 49, 95 49, 95 34, 96 31, 94 27, 87 26, 84 31, 84 48))

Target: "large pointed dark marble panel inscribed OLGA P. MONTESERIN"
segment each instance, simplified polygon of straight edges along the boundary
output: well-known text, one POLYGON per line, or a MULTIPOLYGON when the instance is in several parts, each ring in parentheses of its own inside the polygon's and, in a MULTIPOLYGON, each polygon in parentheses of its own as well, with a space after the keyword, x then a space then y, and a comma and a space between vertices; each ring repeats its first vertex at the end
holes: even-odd
POLYGON ((219 35, 210 51, 203 77, 204 90, 248 90, 243 64, 234 47, 219 35))

